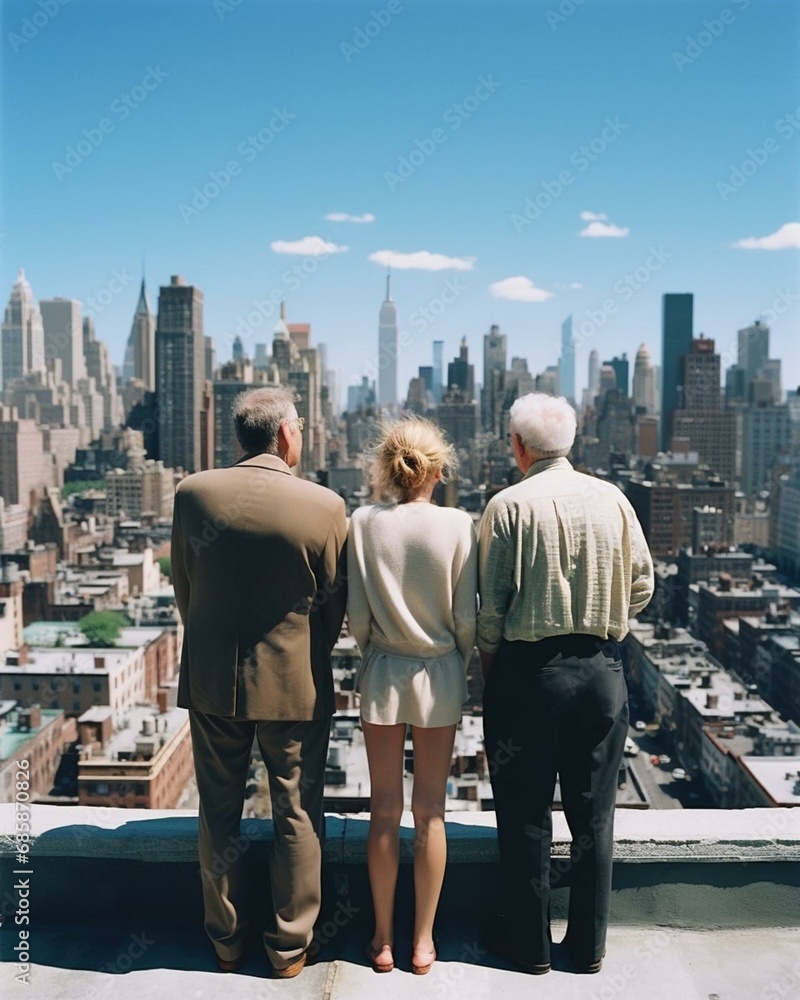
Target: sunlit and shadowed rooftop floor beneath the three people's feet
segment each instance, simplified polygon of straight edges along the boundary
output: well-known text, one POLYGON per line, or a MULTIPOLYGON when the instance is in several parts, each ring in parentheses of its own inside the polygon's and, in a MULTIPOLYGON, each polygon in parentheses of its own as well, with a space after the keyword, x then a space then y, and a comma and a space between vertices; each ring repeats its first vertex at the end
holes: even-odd
MULTIPOLYGON (((563 924, 557 931, 563 930, 563 924)), ((46 925, 32 939, 30 986, 14 982, 12 934, 0 935, 2 995, 7 1000, 226 1000, 294 997, 298 1000, 382 1000, 413 997, 536 996, 541 1000, 771 1000, 800 996, 800 952, 793 929, 699 931, 612 927, 608 955, 596 976, 562 967, 533 977, 512 971, 483 951, 469 933, 440 929, 441 956, 426 977, 412 976, 399 955, 394 972, 377 978, 360 957, 368 929, 348 927, 296 979, 269 978, 266 956, 255 949, 242 970, 222 977, 202 930, 155 923, 46 925), (138 956, 138 957, 134 957, 138 956), (32 987, 32 988, 31 988, 32 987)), ((401 945, 402 946, 402 945, 401 945)), ((408 942, 405 943, 408 950, 408 942)))

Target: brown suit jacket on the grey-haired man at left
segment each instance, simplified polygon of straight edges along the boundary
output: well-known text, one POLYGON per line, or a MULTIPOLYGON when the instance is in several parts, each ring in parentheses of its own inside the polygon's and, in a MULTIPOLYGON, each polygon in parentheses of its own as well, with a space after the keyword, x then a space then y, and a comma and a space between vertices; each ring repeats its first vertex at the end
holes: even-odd
POLYGON ((296 478, 276 455, 178 485, 179 705, 240 719, 333 714, 330 651, 347 602, 346 533, 341 497, 296 478))

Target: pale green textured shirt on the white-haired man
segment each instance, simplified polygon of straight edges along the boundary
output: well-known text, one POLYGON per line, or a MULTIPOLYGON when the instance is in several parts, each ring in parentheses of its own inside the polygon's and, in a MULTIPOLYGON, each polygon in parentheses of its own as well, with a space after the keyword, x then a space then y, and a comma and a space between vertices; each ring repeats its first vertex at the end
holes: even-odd
POLYGON ((478 551, 477 642, 488 653, 503 639, 623 639, 653 596, 653 560, 628 498, 566 458, 536 462, 492 497, 478 551))

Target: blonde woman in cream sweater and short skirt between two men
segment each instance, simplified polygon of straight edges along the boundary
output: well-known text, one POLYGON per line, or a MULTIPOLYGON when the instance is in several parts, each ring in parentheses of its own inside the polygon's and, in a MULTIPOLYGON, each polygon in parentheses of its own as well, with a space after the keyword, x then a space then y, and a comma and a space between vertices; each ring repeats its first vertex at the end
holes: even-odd
POLYGON ((362 654, 356 678, 371 785, 367 866, 375 933, 366 954, 394 968, 394 896, 406 726, 414 745, 414 932, 411 971, 436 959, 433 922, 444 878, 444 806, 456 724, 475 641, 477 545, 468 514, 431 503, 455 454, 426 420, 388 427, 376 449, 379 495, 347 542, 348 617, 362 654))

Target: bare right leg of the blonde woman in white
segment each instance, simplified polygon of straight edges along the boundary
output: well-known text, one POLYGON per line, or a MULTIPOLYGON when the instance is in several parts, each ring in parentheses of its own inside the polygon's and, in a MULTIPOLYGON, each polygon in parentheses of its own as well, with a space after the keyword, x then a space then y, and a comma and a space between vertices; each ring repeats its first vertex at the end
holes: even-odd
POLYGON ((433 955, 433 921, 447 862, 444 805, 453 758, 455 726, 413 726, 414 938, 412 962, 427 965, 433 955))

